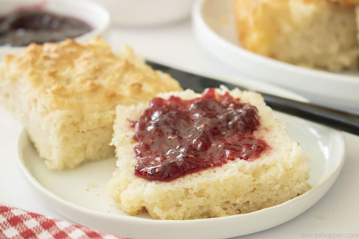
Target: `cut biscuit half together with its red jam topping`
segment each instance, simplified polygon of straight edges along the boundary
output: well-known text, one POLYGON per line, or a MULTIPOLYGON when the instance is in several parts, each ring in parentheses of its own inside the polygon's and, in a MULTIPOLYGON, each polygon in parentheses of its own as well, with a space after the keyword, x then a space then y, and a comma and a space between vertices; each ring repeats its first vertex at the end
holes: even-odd
POLYGON ((310 188, 308 156, 255 92, 169 92, 116 113, 117 169, 108 191, 130 215, 221 217, 310 188))

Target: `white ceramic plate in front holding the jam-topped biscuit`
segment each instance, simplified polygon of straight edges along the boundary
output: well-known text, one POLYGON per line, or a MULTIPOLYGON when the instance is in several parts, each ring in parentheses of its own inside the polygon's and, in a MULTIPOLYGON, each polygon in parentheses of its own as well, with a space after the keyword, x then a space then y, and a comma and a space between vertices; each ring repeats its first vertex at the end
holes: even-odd
MULTIPOLYGON (((245 81, 241 83, 248 85, 245 81)), ((270 89, 263 83, 256 83, 256 88, 270 89)), ((287 97, 289 94, 278 88, 273 92, 287 97)), ((300 99, 295 94, 291 96, 300 99)), ((153 220, 146 213, 129 216, 117 209, 106 191, 115 158, 85 163, 72 170, 50 171, 25 130, 18 140, 18 161, 39 197, 76 223, 136 239, 230 238, 272 228, 298 216, 329 190, 344 162, 345 145, 340 132, 286 114, 276 115, 312 159, 309 182, 312 189, 283 204, 248 214, 182 221, 153 220)))

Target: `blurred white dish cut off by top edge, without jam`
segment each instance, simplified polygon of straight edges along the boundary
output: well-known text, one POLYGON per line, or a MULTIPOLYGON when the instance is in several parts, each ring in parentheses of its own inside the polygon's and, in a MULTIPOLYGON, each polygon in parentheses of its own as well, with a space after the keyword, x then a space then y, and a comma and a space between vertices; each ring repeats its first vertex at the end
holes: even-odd
POLYGON ((96 0, 121 26, 150 26, 188 18, 194 0, 96 0))

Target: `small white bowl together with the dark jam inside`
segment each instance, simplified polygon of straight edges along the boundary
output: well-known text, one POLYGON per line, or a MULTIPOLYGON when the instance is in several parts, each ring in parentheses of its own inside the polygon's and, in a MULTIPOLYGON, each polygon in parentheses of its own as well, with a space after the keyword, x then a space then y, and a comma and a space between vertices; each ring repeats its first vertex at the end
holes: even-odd
POLYGON ((0 0, 0 57, 30 43, 106 38, 109 14, 87 0, 0 0))

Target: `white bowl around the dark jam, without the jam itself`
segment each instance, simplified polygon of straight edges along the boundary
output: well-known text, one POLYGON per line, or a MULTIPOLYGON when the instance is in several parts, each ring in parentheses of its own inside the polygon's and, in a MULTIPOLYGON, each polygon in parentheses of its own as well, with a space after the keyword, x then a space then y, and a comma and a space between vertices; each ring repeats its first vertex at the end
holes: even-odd
MULTIPOLYGON (((87 41, 100 35, 106 39, 108 36, 109 14, 103 6, 88 0, 0 0, 0 16, 6 15, 17 9, 19 6, 39 5, 43 10, 47 10, 60 15, 73 16, 84 20, 93 30, 76 37, 78 42, 87 41)), ((0 46, 0 56, 4 54, 17 54, 25 47, 0 46)))

